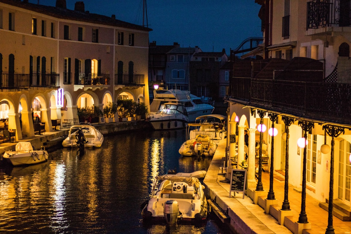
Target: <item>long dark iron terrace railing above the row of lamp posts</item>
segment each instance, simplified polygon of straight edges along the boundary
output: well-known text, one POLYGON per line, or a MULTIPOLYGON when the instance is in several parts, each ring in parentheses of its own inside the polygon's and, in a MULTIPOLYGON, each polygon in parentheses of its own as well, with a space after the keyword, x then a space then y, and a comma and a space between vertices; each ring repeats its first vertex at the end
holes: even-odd
POLYGON ((351 84, 232 78, 231 98, 251 106, 351 124, 351 84), (247 93, 250 91, 249 93, 247 93))

